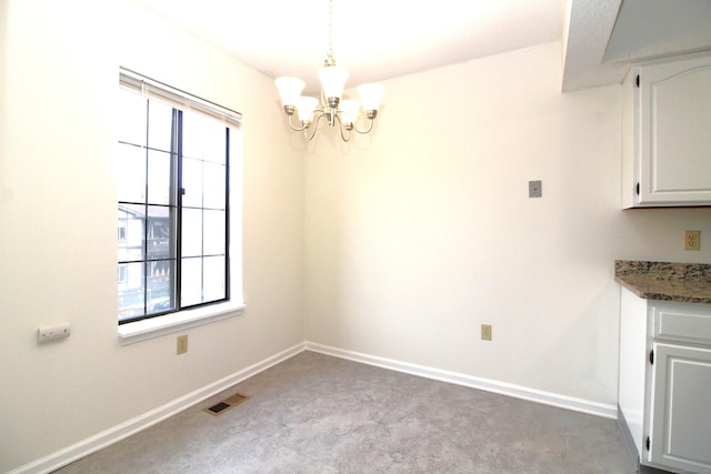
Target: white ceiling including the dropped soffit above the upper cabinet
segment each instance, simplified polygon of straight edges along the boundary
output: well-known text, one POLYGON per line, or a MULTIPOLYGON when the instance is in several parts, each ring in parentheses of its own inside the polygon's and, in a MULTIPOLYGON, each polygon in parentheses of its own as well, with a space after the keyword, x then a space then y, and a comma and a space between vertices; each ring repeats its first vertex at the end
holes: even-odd
MULTIPOLYGON (((327 0, 134 0, 277 78, 318 92, 327 0)), ((620 82, 629 63, 711 50, 709 0, 334 0, 349 85, 562 41, 561 90, 620 82)))

